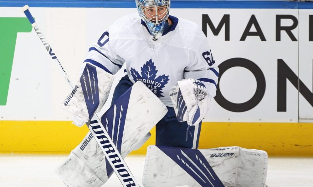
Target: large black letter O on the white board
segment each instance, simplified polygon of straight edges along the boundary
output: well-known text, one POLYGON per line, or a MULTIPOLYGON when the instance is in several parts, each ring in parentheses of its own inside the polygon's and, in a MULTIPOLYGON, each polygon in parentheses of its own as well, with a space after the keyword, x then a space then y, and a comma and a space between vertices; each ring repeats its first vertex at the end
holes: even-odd
MULTIPOLYGON (((251 60, 248 60, 245 58, 232 58, 232 59, 225 60, 220 65, 218 65, 218 68, 219 68, 218 82, 226 70, 232 67, 237 67, 237 66, 248 69, 254 75, 256 79, 257 87, 256 87, 256 91, 253 97, 244 103, 232 103, 223 97, 221 90, 219 89, 219 84, 218 84, 217 90, 216 90, 216 96, 214 97, 214 99, 221 107, 225 108, 226 110, 229 110, 232 112, 245 112, 257 106, 262 100, 264 93, 265 93, 265 87, 266 87, 265 77, 264 77, 262 70, 259 68, 259 66, 256 65, 251 60)), ((238 77, 238 82, 240 82, 239 77, 238 77)))

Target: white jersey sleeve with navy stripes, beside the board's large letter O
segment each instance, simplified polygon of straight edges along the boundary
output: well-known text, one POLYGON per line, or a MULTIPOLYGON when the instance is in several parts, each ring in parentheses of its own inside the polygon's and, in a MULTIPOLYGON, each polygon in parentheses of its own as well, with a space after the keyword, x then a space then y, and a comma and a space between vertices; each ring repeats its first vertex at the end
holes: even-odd
POLYGON ((204 83, 211 97, 215 97, 218 84, 218 66, 204 36, 197 50, 193 51, 189 65, 184 70, 185 79, 198 79, 204 83))

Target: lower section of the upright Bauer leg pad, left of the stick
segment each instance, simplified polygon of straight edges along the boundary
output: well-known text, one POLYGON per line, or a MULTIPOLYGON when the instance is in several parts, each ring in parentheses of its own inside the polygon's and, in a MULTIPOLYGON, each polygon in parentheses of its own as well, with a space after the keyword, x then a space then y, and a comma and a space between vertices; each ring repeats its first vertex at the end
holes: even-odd
POLYGON ((102 180, 108 179, 105 156, 90 132, 59 165, 56 173, 70 187, 101 186, 104 183, 102 180))

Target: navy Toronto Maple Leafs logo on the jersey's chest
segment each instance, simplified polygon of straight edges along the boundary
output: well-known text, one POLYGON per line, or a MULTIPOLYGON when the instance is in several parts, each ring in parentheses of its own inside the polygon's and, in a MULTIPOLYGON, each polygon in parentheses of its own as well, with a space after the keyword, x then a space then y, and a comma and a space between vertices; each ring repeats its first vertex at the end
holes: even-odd
POLYGON ((170 80, 168 75, 165 74, 159 75, 156 78, 156 66, 152 62, 152 59, 147 61, 146 64, 141 67, 141 75, 136 71, 134 68, 131 67, 131 76, 134 80, 141 81, 142 83, 146 84, 146 86, 154 93, 157 97, 164 97, 161 93, 161 90, 165 87, 165 84, 170 80))

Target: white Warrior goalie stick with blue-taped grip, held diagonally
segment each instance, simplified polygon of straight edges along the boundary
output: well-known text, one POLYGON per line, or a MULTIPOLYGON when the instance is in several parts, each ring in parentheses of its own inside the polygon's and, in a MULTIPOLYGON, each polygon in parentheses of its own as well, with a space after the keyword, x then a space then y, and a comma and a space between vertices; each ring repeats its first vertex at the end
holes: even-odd
MULTIPOLYGON (((28 21, 33 26, 34 30, 36 31, 38 37, 40 38, 42 44, 46 48, 47 52, 51 56, 52 60, 57 63, 59 66, 59 69, 62 71, 62 74, 64 78, 69 83, 69 86, 71 89, 75 89, 73 84, 71 83, 69 76, 65 72, 64 68, 62 67, 61 63, 59 62, 57 56, 52 51, 49 43, 45 39, 44 35, 40 31, 37 23, 35 22, 33 16, 29 12, 28 5, 25 5, 22 8, 22 11, 25 13, 26 17, 28 18, 28 21)), ((110 135, 105 130, 103 124, 101 123, 99 117, 94 114, 91 118, 90 122, 87 123, 87 126, 94 136, 95 140, 97 141, 98 145, 100 146, 102 152, 104 153, 105 157, 109 161, 110 165, 112 166, 114 172, 116 173, 117 177, 121 181, 122 185, 124 187, 131 187, 131 186, 137 186, 139 187, 138 182, 136 181, 135 177, 131 174, 130 169, 126 165, 123 157, 121 156, 121 153, 116 148, 115 144, 113 143, 112 139, 110 138, 110 135), (120 162, 117 162, 116 160, 120 160, 120 162)))

